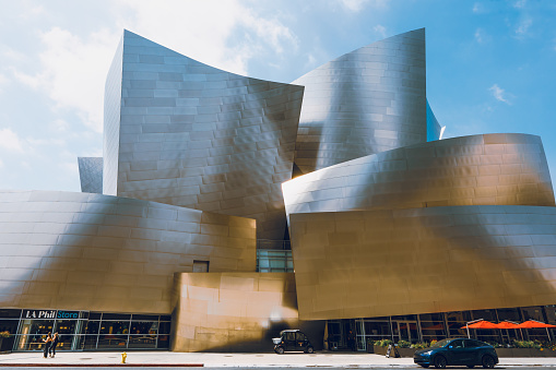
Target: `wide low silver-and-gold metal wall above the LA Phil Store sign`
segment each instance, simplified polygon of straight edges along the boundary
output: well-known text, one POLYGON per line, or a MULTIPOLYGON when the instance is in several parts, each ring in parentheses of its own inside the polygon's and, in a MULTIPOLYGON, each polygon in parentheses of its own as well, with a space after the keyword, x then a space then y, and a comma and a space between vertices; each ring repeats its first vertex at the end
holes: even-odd
POLYGON ((256 268, 255 220, 100 194, 0 192, 0 307, 169 313, 174 273, 256 268))

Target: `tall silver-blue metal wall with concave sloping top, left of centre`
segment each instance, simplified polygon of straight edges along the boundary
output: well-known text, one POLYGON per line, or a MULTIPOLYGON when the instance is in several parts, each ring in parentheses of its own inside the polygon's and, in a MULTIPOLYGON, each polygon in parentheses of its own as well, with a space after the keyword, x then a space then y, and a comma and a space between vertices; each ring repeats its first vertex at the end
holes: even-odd
POLYGON ((259 238, 283 239, 280 186, 292 178, 304 87, 228 73, 128 31, 116 58, 114 194, 252 217, 259 238))

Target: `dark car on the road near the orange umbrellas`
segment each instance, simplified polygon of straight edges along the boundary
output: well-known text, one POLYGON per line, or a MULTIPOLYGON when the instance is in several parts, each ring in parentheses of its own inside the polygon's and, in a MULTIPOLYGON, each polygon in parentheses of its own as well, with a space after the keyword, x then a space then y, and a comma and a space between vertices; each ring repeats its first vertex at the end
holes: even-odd
POLYGON ((413 361, 423 368, 434 365, 437 369, 443 369, 447 365, 464 365, 470 369, 474 366, 492 369, 498 363, 498 355, 493 346, 484 342, 451 338, 415 351, 413 361))

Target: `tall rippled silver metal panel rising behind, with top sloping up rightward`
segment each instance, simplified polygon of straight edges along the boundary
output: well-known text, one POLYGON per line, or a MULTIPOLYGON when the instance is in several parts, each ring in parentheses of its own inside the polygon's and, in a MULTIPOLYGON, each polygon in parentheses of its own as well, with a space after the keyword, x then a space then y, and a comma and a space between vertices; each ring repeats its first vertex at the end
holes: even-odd
POLYGON ((305 86, 295 164, 308 174, 427 141, 425 28, 346 53, 305 86))

